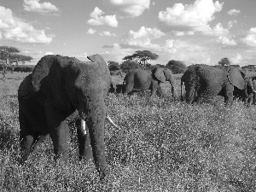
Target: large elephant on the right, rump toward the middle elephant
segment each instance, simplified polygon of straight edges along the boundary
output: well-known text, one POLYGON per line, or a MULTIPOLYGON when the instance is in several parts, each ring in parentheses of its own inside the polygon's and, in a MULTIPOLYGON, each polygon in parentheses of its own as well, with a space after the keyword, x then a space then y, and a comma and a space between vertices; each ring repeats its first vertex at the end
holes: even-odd
POLYGON ((198 64, 190 66, 181 79, 181 96, 183 82, 188 103, 209 101, 214 96, 224 96, 225 104, 231 104, 234 87, 242 90, 246 98, 253 96, 252 79, 238 67, 210 67, 198 64))

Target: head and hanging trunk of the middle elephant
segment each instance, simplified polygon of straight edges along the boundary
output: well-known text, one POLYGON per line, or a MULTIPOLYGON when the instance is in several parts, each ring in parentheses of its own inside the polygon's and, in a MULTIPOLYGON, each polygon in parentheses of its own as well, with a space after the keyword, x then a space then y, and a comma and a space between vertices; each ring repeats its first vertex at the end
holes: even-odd
POLYGON ((172 96, 176 95, 175 91, 175 79, 170 69, 158 67, 154 72, 154 76, 158 79, 161 83, 165 83, 169 81, 172 86, 172 96))

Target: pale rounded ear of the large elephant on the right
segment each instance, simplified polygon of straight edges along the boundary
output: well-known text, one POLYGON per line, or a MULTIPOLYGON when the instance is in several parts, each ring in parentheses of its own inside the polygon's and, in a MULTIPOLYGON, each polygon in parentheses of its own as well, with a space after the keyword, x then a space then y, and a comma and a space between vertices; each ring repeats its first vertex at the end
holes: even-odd
POLYGON ((230 80, 230 84, 236 86, 239 90, 244 90, 246 88, 246 73, 241 70, 231 68, 228 72, 228 78, 230 80))

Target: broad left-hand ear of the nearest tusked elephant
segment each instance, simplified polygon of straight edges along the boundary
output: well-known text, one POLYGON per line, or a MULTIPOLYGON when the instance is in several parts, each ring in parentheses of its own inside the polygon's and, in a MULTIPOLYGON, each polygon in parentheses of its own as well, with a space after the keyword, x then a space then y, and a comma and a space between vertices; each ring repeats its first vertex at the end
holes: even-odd
POLYGON ((40 90, 43 80, 49 74, 49 67, 52 65, 55 55, 45 55, 38 61, 32 72, 32 87, 34 91, 40 90))

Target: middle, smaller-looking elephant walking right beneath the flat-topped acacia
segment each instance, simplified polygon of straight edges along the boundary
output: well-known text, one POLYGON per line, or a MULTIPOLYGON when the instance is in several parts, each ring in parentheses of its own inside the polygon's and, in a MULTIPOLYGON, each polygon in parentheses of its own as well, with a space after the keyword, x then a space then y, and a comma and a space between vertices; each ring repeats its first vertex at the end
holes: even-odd
POLYGON ((141 68, 131 70, 124 79, 124 94, 131 94, 136 91, 151 90, 151 96, 157 93, 163 96, 160 83, 169 81, 172 86, 172 96, 175 96, 175 79, 171 70, 157 67, 151 70, 141 68))

